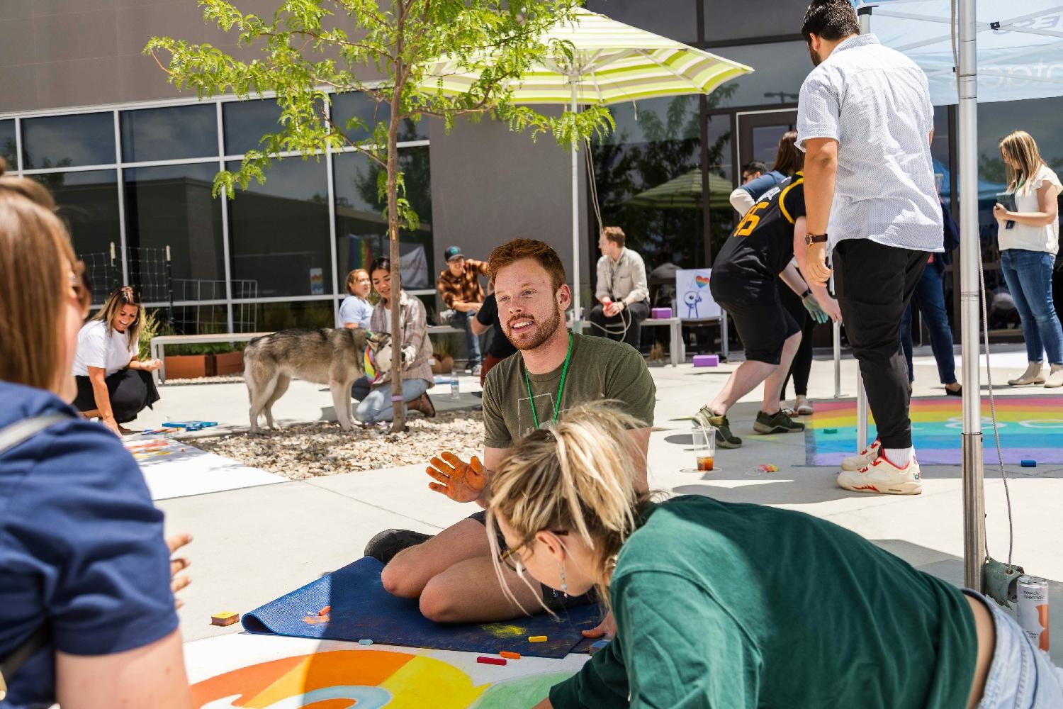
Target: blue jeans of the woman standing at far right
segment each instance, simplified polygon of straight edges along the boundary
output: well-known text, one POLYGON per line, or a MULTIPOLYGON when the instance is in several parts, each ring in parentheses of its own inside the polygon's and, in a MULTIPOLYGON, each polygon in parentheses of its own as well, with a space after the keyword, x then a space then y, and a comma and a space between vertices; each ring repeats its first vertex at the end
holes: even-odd
POLYGON ((1000 252, 1000 272, 1015 300, 1023 321, 1026 358, 1063 365, 1063 327, 1052 303, 1052 265, 1056 256, 1044 251, 1005 249, 1000 252))

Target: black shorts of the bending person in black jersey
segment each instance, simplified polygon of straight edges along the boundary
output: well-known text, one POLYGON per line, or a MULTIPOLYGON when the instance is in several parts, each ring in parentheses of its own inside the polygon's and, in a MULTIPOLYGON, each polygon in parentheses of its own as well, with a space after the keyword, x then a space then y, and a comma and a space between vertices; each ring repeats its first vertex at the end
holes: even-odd
MULTIPOLYGON (((719 276, 718 276, 719 277, 719 276)), ((713 278, 713 285, 716 284, 713 278)), ((738 336, 745 347, 745 358, 778 365, 782 357, 782 343, 800 332, 800 325, 782 307, 779 290, 773 281, 745 281, 741 286, 727 288, 721 284, 720 294, 713 298, 735 323, 738 336)))

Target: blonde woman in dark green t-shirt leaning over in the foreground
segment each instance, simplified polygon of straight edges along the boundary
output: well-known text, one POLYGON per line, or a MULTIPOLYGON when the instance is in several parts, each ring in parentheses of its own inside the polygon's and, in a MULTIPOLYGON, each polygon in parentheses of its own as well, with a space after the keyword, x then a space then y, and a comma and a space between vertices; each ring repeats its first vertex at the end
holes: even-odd
POLYGON ((572 409, 485 493, 500 579, 597 588, 615 615, 537 709, 1063 706, 1063 672, 973 591, 802 512, 637 493, 630 426, 572 409))

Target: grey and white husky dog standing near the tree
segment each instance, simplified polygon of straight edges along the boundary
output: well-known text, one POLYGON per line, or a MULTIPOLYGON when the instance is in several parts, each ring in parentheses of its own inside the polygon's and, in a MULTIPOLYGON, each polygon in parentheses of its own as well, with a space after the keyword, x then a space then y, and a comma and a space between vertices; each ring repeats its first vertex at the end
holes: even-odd
POLYGON ((366 374, 366 362, 384 373, 391 366, 391 336, 365 330, 282 330, 256 337, 243 351, 243 381, 251 399, 251 433, 258 433, 258 416, 274 428, 274 402, 292 378, 327 384, 336 418, 350 431, 351 385, 366 374))

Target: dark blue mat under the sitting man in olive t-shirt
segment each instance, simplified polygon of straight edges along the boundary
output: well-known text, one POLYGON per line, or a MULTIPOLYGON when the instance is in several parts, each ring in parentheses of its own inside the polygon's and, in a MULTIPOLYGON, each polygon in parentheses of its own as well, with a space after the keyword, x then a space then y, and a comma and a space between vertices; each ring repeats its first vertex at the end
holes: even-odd
MULTIPOLYGON (((417 601, 400 598, 384 590, 376 559, 365 557, 313 584, 246 613, 249 632, 322 640, 362 640, 407 647, 497 653, 508 649, 532 657, 564 657, 590 646, 579 635, 597 625, 596 605, 503 623, 443 624, 421 614, 417 601), (332 606, 327 621, 318 615, 332 606), (546 642, 528 642, 528 636, 546 636, 546 642), (577 647, 578 645, 578 647, 577 647)), ((493 580, 493 579, 492 579, 493 580)))

